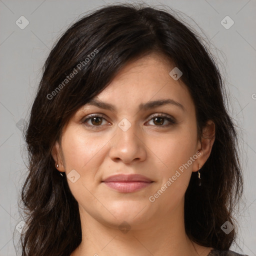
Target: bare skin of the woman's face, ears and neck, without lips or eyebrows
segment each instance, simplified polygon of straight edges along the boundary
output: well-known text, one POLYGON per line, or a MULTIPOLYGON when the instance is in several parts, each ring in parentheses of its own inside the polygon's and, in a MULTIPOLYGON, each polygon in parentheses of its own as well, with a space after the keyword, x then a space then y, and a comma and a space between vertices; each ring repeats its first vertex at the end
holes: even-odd
POLYGON ((57 169, 66 175, 75 169, 80 175, 74 183, 67 177, 79 205, 82 228, 82 242, 71 256, 206 256, 212 249, 187 237, 183 207, 192 171, 210 154, 214 123, 208 121, 199 141, 192 98, 186 85, 169 75, 173 67, 156 53, 129 61, 95 97, 113 104, 116 111, 84 105, 55 142, 52 156, 57 169), (140 103, 166 98, 179 102, 184 110, 173 104, 138 110, 140 103), (103 114, 99 124, 87 119, 87 125, 96 128, 82 122, 91 113, 103 114), (161 113, 174 117, 176 123, 152 119, 152 114, 161 113), (126 131, 118 126, 123 118, 131 124, 126 131), (149 196, 196 152, 200 155, 189 167, 150 202, 149 196), (154 182, 136 192, 121 193, 101 182, 117 173, 142 174, 154 182), (130 227, 126 233, 118 228, 123 221, 130 227))

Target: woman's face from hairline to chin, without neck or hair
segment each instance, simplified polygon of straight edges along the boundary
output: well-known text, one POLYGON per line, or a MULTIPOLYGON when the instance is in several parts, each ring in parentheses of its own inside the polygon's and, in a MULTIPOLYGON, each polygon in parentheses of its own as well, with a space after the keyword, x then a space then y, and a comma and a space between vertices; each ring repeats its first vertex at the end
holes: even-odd
POLYGON ((194 104, 181 80, 169 75, 173 68, 156 54, 129 62, 94 97, 101 107, 85 104, 64 127, 56 161, 83 217, 136 229, 183 207, 191 172, 204 162, 194 104), (153 104, 159 100, 169 103, 153 104), (147 181, 107 182, 116 174, 147 181))

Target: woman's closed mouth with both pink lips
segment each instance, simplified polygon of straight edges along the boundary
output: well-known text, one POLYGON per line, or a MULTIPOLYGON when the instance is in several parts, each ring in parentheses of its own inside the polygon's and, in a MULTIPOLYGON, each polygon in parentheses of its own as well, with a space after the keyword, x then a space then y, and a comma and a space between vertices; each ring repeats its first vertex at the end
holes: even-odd
POLYGON ((117 174, 107 177, 102 182, 119 192, 130 193, 148 187, 154 181, 140 174, 117 174))

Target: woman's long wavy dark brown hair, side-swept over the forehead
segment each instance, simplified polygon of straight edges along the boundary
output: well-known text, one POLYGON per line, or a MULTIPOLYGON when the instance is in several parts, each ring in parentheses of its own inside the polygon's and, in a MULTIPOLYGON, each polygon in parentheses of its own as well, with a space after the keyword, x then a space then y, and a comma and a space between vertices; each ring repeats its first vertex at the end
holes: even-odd
POLYGON ((21 199, 28 228, 20 239, 22 256, 69 255, 81 242, 78 203, 65 174, 61 177, 55 168, 52 146, 78 108, 127 61, 149 52, 162 53, 182 71, 180 79, 195 104, 198 136, 207 120, 215 123, 215 141, 201 168, 202 185, 193 172, 185 192, 186 233, 200 245, 230 247, 236 228, 226 234, 220 227, 227 220, 235 226, 232 211, 242 192, 242 176, 237 135, 214 58, 200 37, 168 11, 118 4, 72 24, 45 61, 25 133, 29 172, 21 199), (77 73, 68 79, 74 69, 77 73))

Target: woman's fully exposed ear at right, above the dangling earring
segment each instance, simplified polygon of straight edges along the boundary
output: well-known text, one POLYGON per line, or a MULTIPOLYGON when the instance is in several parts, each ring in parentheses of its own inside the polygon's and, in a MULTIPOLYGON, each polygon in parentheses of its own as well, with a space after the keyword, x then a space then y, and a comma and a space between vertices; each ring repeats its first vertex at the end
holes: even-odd
POLYGON ((198 157, 197 164, 193 165, 192 171, 197 171, 203 166, 208 159, 213 142, 215 140, 215 123, 212 120, 208 120, 206 125, 202 129, 201 141, 198 141, 198 157))

